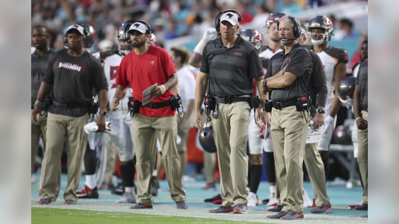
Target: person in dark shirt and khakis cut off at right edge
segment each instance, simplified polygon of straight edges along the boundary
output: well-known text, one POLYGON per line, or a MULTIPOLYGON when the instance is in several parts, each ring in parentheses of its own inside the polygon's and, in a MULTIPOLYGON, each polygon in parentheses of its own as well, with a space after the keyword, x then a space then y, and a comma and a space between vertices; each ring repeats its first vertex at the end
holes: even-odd
MULTIPOLYGON (((363 204, 354 208, 354 210, 367 210, 368 208, 368 102, 367 102, 367 83, 368 83, 368 59, 365 59, 359 67, 358 76, 356 77, 356 85, 354 92, 354 114, 355 121, 358 126, 358 163, 360 169, 361 180, 363 181, 363 204)), ((367 215, 363 216, 367 218, 367 215)))

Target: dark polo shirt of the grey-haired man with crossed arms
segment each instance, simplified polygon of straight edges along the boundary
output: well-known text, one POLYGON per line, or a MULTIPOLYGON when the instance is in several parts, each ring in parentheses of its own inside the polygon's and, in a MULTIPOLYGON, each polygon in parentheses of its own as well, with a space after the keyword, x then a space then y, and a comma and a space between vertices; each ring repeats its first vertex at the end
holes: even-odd
POLYGON ((285 72, 294 73, 298 77, 289 86, 273 89, 270 97, 273 102, 284 102, 305 93, 312 69, 312 54, 306 47, 297 43, 290 52, 285 55, 284 52, 280 51, 270 59, 265 79, 276 75, 287 64, 285 72))

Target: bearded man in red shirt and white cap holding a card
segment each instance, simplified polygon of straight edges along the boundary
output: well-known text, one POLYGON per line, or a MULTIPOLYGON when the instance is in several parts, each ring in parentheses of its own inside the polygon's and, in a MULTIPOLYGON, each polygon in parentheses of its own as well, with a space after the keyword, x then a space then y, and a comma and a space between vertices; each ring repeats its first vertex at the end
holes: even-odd
POLYGON ((142 92, 158 83, 158 86, 151 91, 151 96, 155 98, 149 104, 140 106, 139 113, 134 114, 133 117, 138 195, 136 203, 130 208, 152 208, 150 184, 155 166, 158 137, 171 197, 178 209, 186 209, 188 205, 183 191, 176 145, 176 110, 171 110, 170 106, 154 108, 160 103, 168 102, 173 96, 171 88, 178 83, 178 77, 168 52, 160 47, 148 45, 147 39, 150 33, 150 25, 141 20, 134 22, 127 30, 126 38, 130 40, 134 51, 123 57, 120 62, 116 82, 118 86, 114 96, 116 99, 111 104, 111 109, 117 110, 119 100, 125 96, 130 84, 133 98, 142 102, 142 92))

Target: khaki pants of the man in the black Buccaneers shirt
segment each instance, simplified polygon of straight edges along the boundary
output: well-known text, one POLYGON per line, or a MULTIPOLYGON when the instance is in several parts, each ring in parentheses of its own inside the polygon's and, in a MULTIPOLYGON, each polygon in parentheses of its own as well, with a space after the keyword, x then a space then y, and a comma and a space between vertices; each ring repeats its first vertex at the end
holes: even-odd
POLYGON ((79 187, 83 156, 87 146, 87 134, 83 130, 89 122, 89 114, 71 117, 59 114, 47 115, 47 145, 41 166, 40 198, 56 198, 56 189, 61 178, 61 153, 67 141, 68 183, 64 192, 65 200, 77 200, 75 191, 79 187))

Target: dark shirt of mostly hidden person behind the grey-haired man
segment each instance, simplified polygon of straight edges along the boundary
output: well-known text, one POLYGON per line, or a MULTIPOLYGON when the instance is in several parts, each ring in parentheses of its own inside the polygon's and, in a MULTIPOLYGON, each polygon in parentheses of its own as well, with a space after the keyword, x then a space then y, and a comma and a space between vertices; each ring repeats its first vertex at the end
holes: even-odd
POLYGON ((308 82, 308 92, 310 92, 314 108, 317 108, 318 106, 325 107, 327 99, 326 73, 324 72, 323 63, 320 57, 313 51, 310 53, 313 55, 313 63, 312 73, 308 82))

